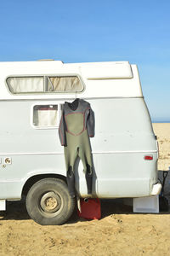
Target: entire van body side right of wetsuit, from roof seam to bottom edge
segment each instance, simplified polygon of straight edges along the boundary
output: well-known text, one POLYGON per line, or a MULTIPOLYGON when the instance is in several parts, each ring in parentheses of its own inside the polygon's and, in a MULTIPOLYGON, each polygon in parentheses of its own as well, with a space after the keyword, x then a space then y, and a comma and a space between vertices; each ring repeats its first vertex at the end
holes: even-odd
POLYGON ((150 195, 157 182, 157 148, 144 98, 90 102, 96 121, 92 148, 98 196, 150 195), (153 160, 144 160, 146 154, 153 155, 153 160))

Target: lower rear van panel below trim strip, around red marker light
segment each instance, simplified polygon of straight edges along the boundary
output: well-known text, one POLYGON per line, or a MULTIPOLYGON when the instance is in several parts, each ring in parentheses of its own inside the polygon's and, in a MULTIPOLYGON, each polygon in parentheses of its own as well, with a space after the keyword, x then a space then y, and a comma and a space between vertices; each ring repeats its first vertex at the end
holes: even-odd
MULTIPOLYGON (((145 153, 146 154, 146 153, 145 153)), ((140 197, 150 195, 156 183, 156 153, 144 161, 144 153, 105 154, 105 167, 98 157, 99 197, 140 197)))

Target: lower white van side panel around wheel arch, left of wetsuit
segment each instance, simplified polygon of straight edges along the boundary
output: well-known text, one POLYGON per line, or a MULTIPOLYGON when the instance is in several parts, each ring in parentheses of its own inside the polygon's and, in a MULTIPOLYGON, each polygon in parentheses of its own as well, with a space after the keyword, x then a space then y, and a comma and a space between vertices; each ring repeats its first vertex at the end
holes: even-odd
POLYGON ((0 166, 0 199, 20 199, 29 177, 42 174, 65 176, 65 159, 60 154, 7 154, 1 155, 4 162, 11 157, 12 164, 0 166))

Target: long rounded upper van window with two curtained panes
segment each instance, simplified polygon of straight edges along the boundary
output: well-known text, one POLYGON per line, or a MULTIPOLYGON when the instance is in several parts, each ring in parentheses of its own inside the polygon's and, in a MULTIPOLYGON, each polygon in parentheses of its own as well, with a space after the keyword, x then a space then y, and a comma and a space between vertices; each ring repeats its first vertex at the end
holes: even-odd
POLYGON ((8 89, 13 94, 81 92, 83 85, 77 76, 9 77, 8 89))

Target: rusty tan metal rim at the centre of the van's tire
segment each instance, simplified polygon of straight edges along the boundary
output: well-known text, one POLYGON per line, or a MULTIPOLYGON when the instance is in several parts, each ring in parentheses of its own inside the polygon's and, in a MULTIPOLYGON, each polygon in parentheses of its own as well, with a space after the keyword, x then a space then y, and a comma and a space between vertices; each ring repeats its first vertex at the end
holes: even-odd
POLYGON ((48 191, 40 197, 39 201, 40 211, 46 217, 54 217, 61 212, 63 208, 62 197, 59 193, 48 191))

